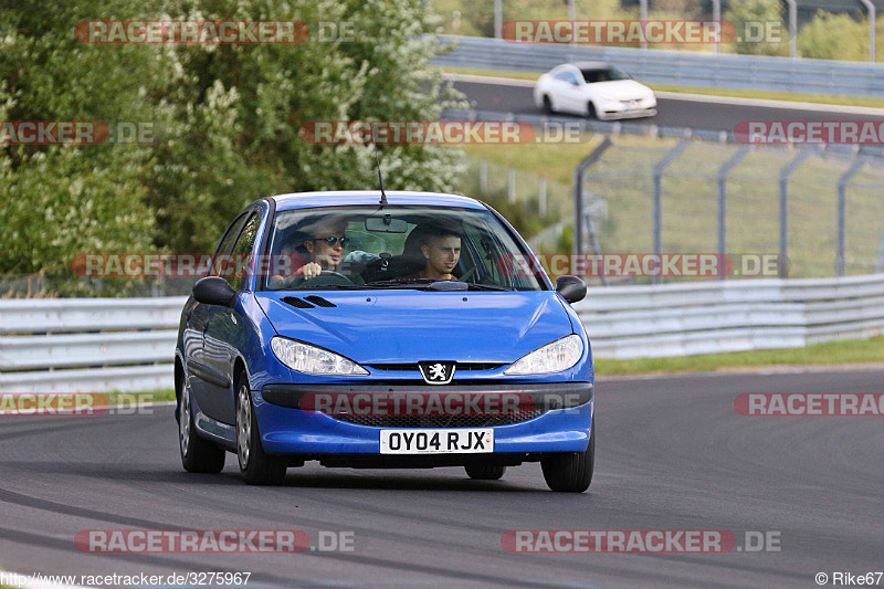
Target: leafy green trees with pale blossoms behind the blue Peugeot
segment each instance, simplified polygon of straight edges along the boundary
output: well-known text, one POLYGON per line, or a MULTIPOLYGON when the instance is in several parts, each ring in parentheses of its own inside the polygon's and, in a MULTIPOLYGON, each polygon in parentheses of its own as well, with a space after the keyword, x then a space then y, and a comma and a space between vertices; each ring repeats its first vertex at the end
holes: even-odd
MULTIPOLYGON (((23 1, 0 14, 2 120, 139 122, 139 145, 0 146, 0 275, 80 252, 211 251, 245 203, 377 187, 366 146, 316 146, 309 120, 427 120, 456 94, 428 67, 423 0, 23 1), (355 38, 301 44, 88 44, 85 20, 302 20, 355 38)), ((460 152, 381 148, 390 189, 451 190, 460 152)))

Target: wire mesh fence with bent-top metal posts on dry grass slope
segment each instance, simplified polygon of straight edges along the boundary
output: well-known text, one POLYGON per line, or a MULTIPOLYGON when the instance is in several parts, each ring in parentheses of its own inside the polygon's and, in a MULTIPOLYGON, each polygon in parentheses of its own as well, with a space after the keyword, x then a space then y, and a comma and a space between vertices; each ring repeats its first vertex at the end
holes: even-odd
POLYGON ((776 254, 780 277, 881 272, 884 160, 610 137, 575 171, 577 253, 776 254), (593 219, 587 201, 606 202, 593 219))

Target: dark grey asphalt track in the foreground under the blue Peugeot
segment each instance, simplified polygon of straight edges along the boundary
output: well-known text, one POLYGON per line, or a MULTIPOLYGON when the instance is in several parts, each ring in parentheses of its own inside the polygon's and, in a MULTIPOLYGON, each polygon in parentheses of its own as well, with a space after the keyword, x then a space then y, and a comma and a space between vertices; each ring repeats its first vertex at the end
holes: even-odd
POLYGON ((740 392, 878 392, 884 370, 602 380, 596 475, 547 490, 538 464, 499 482, 461 469, 291 469, 251 487, 182 471, 172 408, 0 419, 0 568, 31 574, 249 571, 248 587, 817 587, 884 567, 884 420, 746 417, 740 392), (352 551, 80 553, 84 529, 350 532, 352 551), (507 529, 725 529, 780 551, 509 554, 507 529))

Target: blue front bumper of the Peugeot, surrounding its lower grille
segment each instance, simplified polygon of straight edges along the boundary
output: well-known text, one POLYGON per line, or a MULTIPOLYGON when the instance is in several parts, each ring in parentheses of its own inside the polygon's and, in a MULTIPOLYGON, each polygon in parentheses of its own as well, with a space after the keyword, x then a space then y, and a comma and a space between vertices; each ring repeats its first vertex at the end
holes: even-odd
MULTIPOLYGON (((382 428, 349 423, 330 414, 301 407, 305 396, 333 395, 516 395, 532 399, 539 417, 494 429, 492 454, 421 454, 412 462, 456 464, 494 457, 499 454, 536 454, 544 452, 583 452, 590 437, 593 410, 593 387, 590 382, 555 383, 477 383, 465 386, 428 385, 266 385, 252 391, 261 442, 269 454, 285 454, 305 460, 323 460, 329 455, 380 459, 382 428), (460 456, 460 457, 459 457, 460 456)), ((501 456, 502 457, 502 456, 501 456)), ((533 459, 526 459, 533 460, 533 459)))

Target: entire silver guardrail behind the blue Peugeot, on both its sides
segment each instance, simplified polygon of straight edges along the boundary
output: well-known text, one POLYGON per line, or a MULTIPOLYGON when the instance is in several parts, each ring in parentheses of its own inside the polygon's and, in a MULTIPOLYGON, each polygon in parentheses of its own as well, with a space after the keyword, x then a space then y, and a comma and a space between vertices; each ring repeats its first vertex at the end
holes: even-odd
MULTIPOLYGON (((0 301, 0 392, 172 387, 183 297, 0 301)), ((801 347, 884 334, 884 274, 590 288, 602 358, 801 347)))

